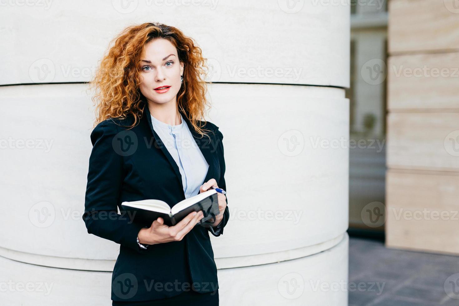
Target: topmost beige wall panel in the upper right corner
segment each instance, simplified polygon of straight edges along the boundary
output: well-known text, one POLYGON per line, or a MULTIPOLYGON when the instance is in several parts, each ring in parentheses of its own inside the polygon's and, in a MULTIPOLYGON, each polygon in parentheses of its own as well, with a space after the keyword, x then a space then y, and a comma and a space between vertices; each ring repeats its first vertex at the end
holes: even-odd
POLYGON ((459 49, 459 7, 454 7, 454 3, 454 0, 389 1, 389 53, 459 49))

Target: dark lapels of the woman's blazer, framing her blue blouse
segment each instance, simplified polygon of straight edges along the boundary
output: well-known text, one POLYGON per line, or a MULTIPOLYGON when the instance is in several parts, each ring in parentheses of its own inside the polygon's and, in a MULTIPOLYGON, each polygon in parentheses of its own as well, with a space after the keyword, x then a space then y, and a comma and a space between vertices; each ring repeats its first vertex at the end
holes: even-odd
MULTIPOLYGON (((211 150, 214 148, 213 146, 214 144, 209 141, 207 136, 204 136, 203 138, 198 138, 199 134, 195 132, 193 126, 191 125, 191 122, 188 120, 188 118, 185 116, 183 112, 180 111, 180 113, 182 114, 182 118, 185 120, 186 124, 188 125, 188 128, 190 129, 191 135, 193 135, 193 139, 195 139, 196 145, 201 150, 202 155, 204 156, 204 158, 207 161, 207 164, 209 165, 209 168, 207 169, 206 177, 204 178, 204 183, 205 183, 209 179, 211 179, 213 175, 214 165, 213 165, 213 156, 212 156, 211 150)), ((172 168, 174 169, 175 175, 177 176, 177 178, 179 178, 180 187, 183 192, 182 175, 180 173, 179 166, 177 166, 177 163, 175 162, 174 158, 171 156, 168 149, 163 144, 161 138, 158 136, 158 134, 153 129, 153 123, 151 122, 151 114, 150 114, 150 110, 148 109, 147 103, 145 103, 143 114, 146 117, 146 121, 148 122, 148 125, 150 126, 151 134, 153 135, 153 138, 154 138, 155 147, 160 148, 162 150, 162 153, 166 156, 167 160, 171 164, 172 168)), ((183 196, 185 198, 184 192, 183 192, 183 196)))

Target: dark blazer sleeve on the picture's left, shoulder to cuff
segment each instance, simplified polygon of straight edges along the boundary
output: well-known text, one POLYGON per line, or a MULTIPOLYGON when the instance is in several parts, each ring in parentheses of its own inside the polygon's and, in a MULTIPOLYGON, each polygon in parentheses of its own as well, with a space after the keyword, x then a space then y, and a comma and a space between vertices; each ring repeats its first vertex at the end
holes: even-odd
POLYGON ((112 146, 118 134, 115 122, 99 123, 91 133, 93 145, 88 171, 83 220, 89 234, 112 240, 144 253, 137 244, 142 226, 118 214, 118 197, 123 183, 123 156, 112 146))

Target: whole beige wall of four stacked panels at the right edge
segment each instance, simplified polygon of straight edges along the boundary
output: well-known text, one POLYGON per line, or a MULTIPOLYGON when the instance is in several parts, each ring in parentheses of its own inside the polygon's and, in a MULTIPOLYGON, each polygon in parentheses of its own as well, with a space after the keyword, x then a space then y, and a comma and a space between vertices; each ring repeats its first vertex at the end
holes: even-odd
POLYGON ((459 7, 391 0, 388 10, 386 245, 459 254, 459 7))

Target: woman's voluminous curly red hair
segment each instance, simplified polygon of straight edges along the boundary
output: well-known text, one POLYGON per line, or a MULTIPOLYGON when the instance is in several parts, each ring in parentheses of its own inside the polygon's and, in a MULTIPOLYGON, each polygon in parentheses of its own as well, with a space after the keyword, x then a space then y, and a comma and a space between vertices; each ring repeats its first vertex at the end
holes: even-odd
POLYGON ((136 63, 140 61, 144 45, 157 38, 168 39, 176 47, 179 60, 185 64, 183 85, 177 94, 179 110, 190 120, 198 134, 203 136, 209 131, 202 129, 206 124, 206 106, 210 108, 205 96, 207 84, 204 80, 204 68, 208 71, 207 59, 202 57, 202 50, 193 39, 177 28, 158 22, 129 26, 110 42, 89 87, 95 89, 92 97, 95 106, 94 127, 108 118, 132 115, 134 123, 129 128, 140 120, 146 101, 139 89, 140 67, 136 63), (204 119, 204 125, 198 126, 201 119, 204 119))

